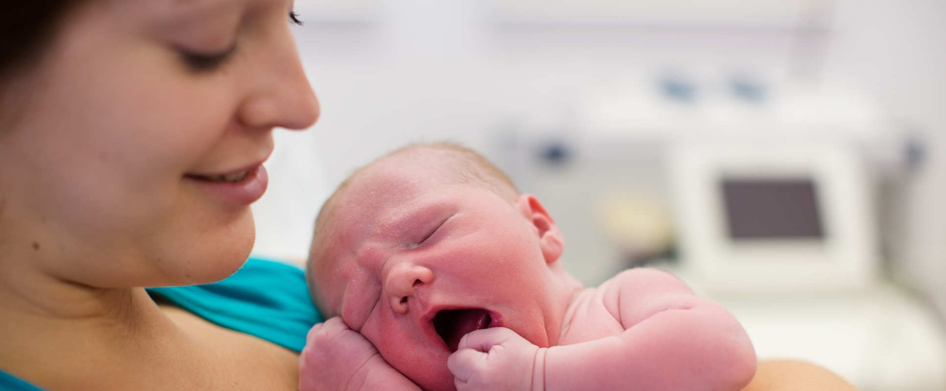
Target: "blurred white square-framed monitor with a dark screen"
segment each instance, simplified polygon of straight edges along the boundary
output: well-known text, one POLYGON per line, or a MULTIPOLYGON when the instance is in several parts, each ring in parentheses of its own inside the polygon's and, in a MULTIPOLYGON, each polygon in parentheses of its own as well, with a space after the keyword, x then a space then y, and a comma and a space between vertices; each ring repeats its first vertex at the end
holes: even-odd
POLYGON ((847 144, 674 144, 680 251, 715 292, 865 289, 880 272, 865 165, 847 144))

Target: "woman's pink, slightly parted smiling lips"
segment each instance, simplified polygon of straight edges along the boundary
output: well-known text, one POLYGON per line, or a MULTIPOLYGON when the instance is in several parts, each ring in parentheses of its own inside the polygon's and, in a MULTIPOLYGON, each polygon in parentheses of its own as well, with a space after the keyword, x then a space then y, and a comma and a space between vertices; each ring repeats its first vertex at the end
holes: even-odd
POLYGON ((244 171, 237 171, 230 174, 198 176, 186 175, 184 178, 195 181, 201 188, 219 198, 220 200, 235 205, 250 205, 259 197, 266 193, 266 186, 269 184, 270 177, 266 172, 266 167, 262 164, 256 164, 244 171), (245 172, 245 175, 242 175, 245 172), (230 181, 234 180, 234 181, 230 181))

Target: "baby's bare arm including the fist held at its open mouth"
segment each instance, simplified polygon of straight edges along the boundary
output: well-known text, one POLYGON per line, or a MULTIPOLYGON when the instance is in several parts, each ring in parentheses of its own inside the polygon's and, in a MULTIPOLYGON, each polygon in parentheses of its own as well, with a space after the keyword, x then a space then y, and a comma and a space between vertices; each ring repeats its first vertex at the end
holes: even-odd
POLYGON ((621 334, 538 348, 509 329, 472 331, 447 361, 457 389, 735 391, 752 379, 756 355, 742 326, 682 281, 633 269, 599 293, 621 334))

